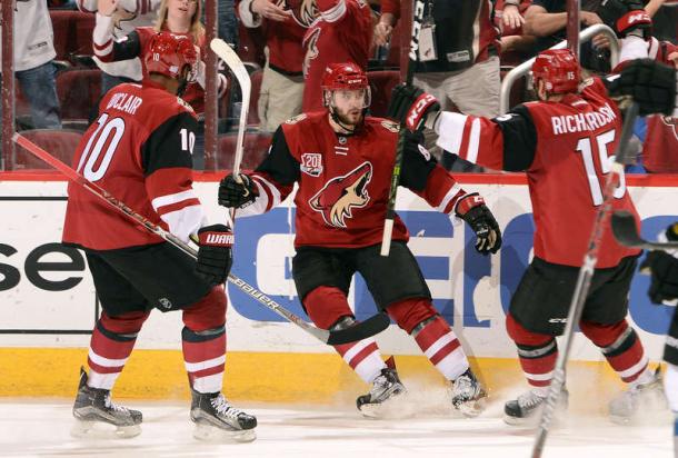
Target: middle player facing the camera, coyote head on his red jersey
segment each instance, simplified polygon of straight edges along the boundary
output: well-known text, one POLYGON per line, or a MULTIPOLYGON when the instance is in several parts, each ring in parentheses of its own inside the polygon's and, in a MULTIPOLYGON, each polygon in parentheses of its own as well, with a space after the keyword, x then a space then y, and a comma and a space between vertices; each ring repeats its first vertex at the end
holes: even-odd
MULTIPOLYGON (((431 303, 400 218, 395 221, 389 257, 379 255, 398 126, 365 117, 369 83, 355 63, 326 69, 322 99, 323 111, 303 113, 280 126, 268 157, 253 173, 221 181, 219 203, 237 208, 238 217, 259 215, 285 200, 297 182, 292 275, 311 320, 322 329, 353 322, 347 295, 353 273, 359 272, 377 305, 415 338, 450 381, 452 406, 467 416, 477 415, 486 394, 459 339, 431 303)), ((501 246, 499 227, 482 198, 461 189, 415 137, 403 153, 400 185, 469 223, 479 252, 493 253, 501 246)), ((335 349, 362 380, 372 384, 370 392, 357 400, 363 415, 379 415, 385 400, 405 391, 373 339, 335 349)))

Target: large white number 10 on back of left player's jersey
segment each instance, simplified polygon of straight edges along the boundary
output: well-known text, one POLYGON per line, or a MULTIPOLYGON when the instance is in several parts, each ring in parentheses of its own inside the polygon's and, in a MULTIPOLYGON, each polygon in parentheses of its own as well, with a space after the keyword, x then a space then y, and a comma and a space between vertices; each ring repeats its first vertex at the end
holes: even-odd
POLYGON ((124 133, 124 120, 122 118, 113 118, 110 121, 108 118, 108 113, 103 113, 97 119, 99 126, 89 138, 78 163, 78 172, 92 182, 100 180, 106 175, 106 170, 108 170, 108 166, 110 166, 111 159, 113 159, 116 153, 116 148, 118 148, 118 143, 124 133), (109 141, 111 135, 113 138, 109 141), (103 159, 99 161, 99 156, 101 156, 101 150, 106 145, 108 147, 106 148, 103 159), (94 170, 98 162, 99 167, 94 170))

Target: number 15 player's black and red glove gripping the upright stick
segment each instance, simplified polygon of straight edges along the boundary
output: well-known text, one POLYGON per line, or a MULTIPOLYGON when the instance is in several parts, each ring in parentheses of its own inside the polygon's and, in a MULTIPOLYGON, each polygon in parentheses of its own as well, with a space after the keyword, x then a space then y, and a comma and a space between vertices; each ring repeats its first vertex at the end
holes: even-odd
POLYGON ((438 111, 440 103, 433 96, 416 86, 398 84, 391 92, 387 118, 400 122, 400 126, 406 126, 415 132, 422 130, 426 119, 438 111))

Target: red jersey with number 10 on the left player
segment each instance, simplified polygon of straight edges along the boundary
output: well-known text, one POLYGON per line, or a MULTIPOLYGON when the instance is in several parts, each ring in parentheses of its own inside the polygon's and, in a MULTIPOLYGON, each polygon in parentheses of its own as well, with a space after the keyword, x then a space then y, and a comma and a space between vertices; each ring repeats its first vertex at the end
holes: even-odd
MULTIPOLYGON (((187 241, 202 226, 192 189, 196 114, 153 82, 120 84, 99 104, 73 168, 151 222, 187 241)), ((63 242, 91 250, 162 240, 79 185, 69 183, 63 242)))

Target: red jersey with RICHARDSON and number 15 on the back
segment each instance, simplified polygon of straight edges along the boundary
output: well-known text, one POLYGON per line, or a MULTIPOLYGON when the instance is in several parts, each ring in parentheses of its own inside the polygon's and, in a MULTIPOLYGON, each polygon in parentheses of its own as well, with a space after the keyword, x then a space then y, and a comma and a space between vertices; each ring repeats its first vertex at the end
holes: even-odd
MULTIPOLYGON (((436 131, 441 148, 466 160, 491 169, 527 171, 535 256, 581 266, 621 131, 621 114, 599 79, 561 102, 525 103, 491 120, 445 112, 436 131)), ((612 208, 638 218, 624 178, 612 208)), ((618 245, 608 227, 597 267, 614 267, 638 252, 618 245)))

